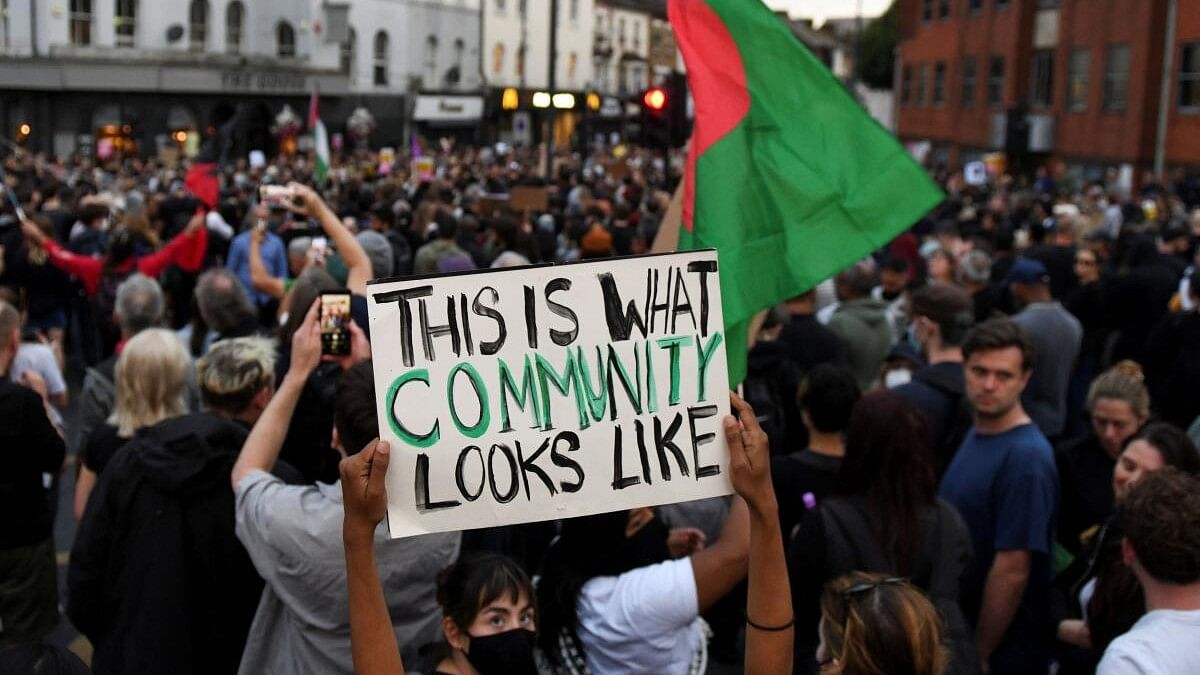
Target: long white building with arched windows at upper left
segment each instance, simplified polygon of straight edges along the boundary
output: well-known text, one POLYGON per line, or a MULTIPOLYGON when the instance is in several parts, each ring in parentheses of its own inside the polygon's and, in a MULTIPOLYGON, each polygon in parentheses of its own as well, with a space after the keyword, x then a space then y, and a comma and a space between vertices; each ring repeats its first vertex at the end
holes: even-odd
POLYGON ((0 136, 30 124, 40 150, 113 136, 145 155, 240 109, 239 138, 269 147, 317 89, 332 132, 365 106, 374 144, 401 143, 419 92, 479 91, 479 2, 0 0, 0 136))

